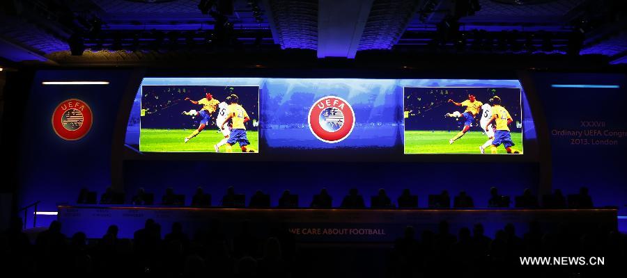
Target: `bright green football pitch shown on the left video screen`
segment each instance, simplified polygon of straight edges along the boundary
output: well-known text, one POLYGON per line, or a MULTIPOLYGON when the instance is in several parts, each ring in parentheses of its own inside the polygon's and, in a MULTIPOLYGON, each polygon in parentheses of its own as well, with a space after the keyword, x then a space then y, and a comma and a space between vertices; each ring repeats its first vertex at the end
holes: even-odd
MULTIPOLYGON (((217 129, 205 129, 198 136, 185 143, 185 137, 194 129, 141 129, 139 132, 139 151, 141 152, 215 152, 213 145, 224 136, 217 129)), ((257 131, 247 131, 250 146, 259 149, 257 131)), ((225 146, 220 152, 226 152, 225 146)), ((233 145, 233 152, 242 152, 239 144, 233 145)))

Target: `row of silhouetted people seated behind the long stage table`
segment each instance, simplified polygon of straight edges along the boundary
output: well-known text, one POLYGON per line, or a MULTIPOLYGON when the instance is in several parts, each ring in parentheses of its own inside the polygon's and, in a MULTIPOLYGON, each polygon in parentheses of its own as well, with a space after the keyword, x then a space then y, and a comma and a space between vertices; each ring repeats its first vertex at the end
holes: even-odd
MULTIPOLYGON (((95 204, 95 192, 89 192, 86 188, 81 190, 79 195, 78 204, 95 204)), ((123 193, 114 193, 114 190, 107 188, 100 198, 100 204, 123 204, 123 193)), ((331 208, 333 198, 327 189, 320 190, 320 194, 314 195, 314 198, 310 204, 311 208, 331 208)), ((235 188, 232 186, 226 190, 226 195, 222 197, 222 201, 219 206, 245 206, 246 196, 243 194, 236 194, 235 188)), ((137 194, 132 197, 131 204, 134 205, 152 205, 154 202, 154 194, 146 193, 144 188, 139 188, 137 194)), ((173 188, 167 188, 165 194, 162 196, 162 205, 166 206, 184 206, 185 195, 175 194, 173 188)), ((412 195, 409 189, 404 189, 401 196, 398 197, 397 203, 399 208, 417 208, 418 196, 412 195)), ((497 188, 490 188, 490 199, 488 200, 488 207, 492 208, 507 208, 511 204, 511 198, 509 196, 500 195, 497 188)), ((191 206, 203 207, 212 206, 211 195, 203 192, 203 188, 196 189, 196 193, 192 197, 191 206)), ((270 207, 270 195, 263 194, 261 190, 257 191, 250 199, 249 207, 270 207)), ((279 198, 279 207, 284 208, 296 208, 298 207, 298 195, 293 195, 289 190, 285 190, 283 195, 279 198)), ((365 208, 364 197, 359 195, 357 188, 350 189, 348 195, 343 198, 341 208, 365 208)), ((371 197, 372 208, 394 208, 396 205, 392 202, 384 189, 379 189, 378 195, 371 197)), ((428 196, 429 208, 450 208, 451 197, 447 190, 443 190, 439 195, 428 196)), ((459 195, 453 199, 454 208, 474 208, 474 202, 472 197, 465 191, 460 191, 459 195)), ((555 193, 550 195, 543 195, 542 205, 538 202, 538 197, 532 194, 529 188, 525 189, 522 195, 517 196, 515 199, 514 207, 516 208, 592 208, 592 199, 588 195, 588 189, 580 188, 579 194, 568 195, 568 199, 562 195, 562 191, 555 190, 555 193)))

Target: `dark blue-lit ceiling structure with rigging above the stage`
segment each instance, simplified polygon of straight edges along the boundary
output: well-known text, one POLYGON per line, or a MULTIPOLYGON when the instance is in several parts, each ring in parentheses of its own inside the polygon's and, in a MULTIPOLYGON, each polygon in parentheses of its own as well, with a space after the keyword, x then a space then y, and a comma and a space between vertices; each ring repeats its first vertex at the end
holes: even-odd
POLYGON ((620 0, 7 0, 0 64, 137 65, 299 52, 627 61, 620 0), (219 54, 219 55, 218 55, 219 54))

